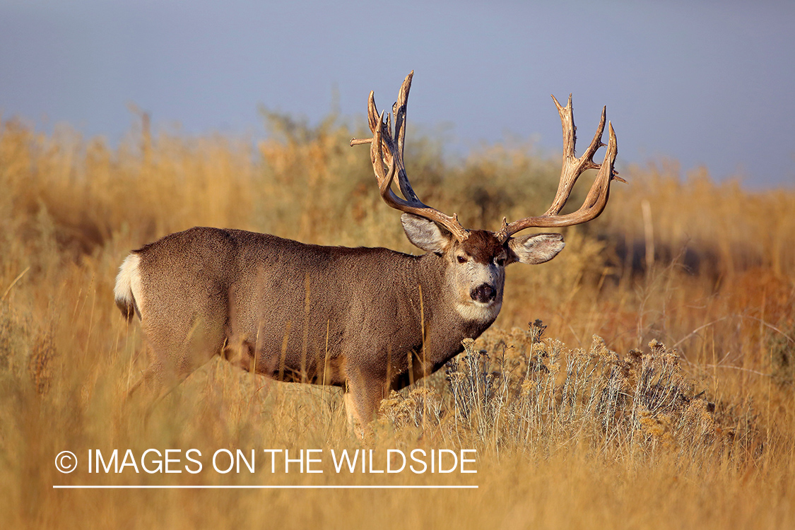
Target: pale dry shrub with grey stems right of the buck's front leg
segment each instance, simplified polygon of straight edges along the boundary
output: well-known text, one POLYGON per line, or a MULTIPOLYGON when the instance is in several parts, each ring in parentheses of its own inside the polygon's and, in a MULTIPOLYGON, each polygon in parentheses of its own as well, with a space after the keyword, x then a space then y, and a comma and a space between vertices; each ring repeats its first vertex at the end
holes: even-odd
POLYGON ((492 334, 483 349, 464 342, 446 368, 443 412, 456 428, 503 448, 575 443, 627 455, 665 447, 706 458, 731 451, 738 438, 760 443, 754 426, 738 432, 735 419, 719 419, 679 354, 660 342, 619 358, 597 336, 589 350, 572 350, 541 339, 543 329, 536 321, 527 332, 492 334))

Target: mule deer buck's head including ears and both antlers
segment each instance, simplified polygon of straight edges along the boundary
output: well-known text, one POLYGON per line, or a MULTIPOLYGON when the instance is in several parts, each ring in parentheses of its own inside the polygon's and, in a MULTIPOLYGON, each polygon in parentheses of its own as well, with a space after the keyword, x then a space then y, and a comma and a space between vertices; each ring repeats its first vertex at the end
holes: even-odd
POLYGON ((502 288, 505 284, 505 267, 511 263, 544 263, 563 250, 561 234, 529 234, 514 237, 521 230, 538 227, 572 226, 595 219, 607 205, 611 180, 621 179, 615 171, 618 148, 615 131, 608 125, 610 139, 602 164, 593 161, 597 149, 605 146, 602 135, 606 109, 602 110, 599 127, 581 157, 575 156, 576 127, 572 111, 572 96, 561 106, 553 96, 560 122, 563 126, 563 168, 560 173, 555 199, 543 214, 525 217, 514 222, 502 219, 499 230, 472 230, 461 226, 458 216, 446 215, 429 207, 417 197, 405 172, 403 149, 405 146, 405 115, 409 89, 414 72, 406 76, 392 107, 392 114, 378 114, 374 93, 370 91, 367 102, 367 119, 373 137, 352 139, 351 145, 370 144, 378 189, 390 207, 404 212, 401 221, 406 236, 413 245, 434 253, 444 263, 448 288, 452 292, 456 309, 467 319, 496 318, 502 307, 502 288), (394 121, 394 130, 393 124, 394 121), (588 169, 598 169, 591 190, 579 210, 560 215, 577 178, 588 169), (397 186, 403 197, 392 189, 397 175, 397 186))

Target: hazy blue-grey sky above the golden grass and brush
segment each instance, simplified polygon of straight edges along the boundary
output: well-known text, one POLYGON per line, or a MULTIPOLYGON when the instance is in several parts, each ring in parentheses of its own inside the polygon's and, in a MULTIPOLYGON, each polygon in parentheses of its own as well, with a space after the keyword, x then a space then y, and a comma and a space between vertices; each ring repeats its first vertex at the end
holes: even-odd
MULTIPOLYGON (((414 70, 409 122, 450 153, 530 139, 560 153, 603 105, 619 164, 701 164, 795 186, 795 2, 0 0, 0 115, 118 141, 134 117, 264 134, 260 104, 364 120, 414 70)), ((407 153, 407 157, 410 156, 407 153)))

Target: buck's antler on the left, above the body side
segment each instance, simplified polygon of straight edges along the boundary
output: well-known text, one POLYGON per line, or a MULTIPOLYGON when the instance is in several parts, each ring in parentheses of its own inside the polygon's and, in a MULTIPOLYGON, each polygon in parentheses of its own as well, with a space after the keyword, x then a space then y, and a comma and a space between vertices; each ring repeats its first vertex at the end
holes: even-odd
POLYGON ((436 208, 429 207, 417 198, 414 193, 409 177, 405 173, 403 164, 403 147, 405 142, 405 111, 409 100, 409 89, 411 88, 411 78, 414 72, 406 75, 400 92, 397 95, 397 102, 392 106, 395 129, 392 133, 392 123, 389 114, 378 114, 375 107, 374 93, 370 91, 370 99, 367 101, 367 122, 370 125, 372 138, 353 138, 351 146, 370 144, 370 160, 373 162, 375 178, 378 179, 378 189, 384 202, 396 210, 405 211, 409 214, 420 215, 425 219, 430 219, 444 226, 460 242, 469 237, 469 231, 458 222, 458 216, 453 214, 446 215, 436 208), (384 166, 386 165, 386 170, 384 166), (392 191, 392 181, 397 172, 397 185, 405 199, 401 199, 392 191))

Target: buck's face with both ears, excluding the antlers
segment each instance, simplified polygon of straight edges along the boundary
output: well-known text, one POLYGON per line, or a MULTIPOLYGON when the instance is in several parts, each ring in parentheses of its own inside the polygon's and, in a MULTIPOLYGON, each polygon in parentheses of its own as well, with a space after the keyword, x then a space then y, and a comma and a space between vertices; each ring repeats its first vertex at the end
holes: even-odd
POLYGON ((459 241, 443 227, 412 214, 401 216, 409 241, 445 261, 456 311, 467 320, 494 320, 502 308, 505 268, 514 262, 543 263, 563 250, 560 234, 533 234, 500 243, 494 232, 470 230, 459 241))

